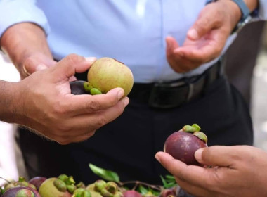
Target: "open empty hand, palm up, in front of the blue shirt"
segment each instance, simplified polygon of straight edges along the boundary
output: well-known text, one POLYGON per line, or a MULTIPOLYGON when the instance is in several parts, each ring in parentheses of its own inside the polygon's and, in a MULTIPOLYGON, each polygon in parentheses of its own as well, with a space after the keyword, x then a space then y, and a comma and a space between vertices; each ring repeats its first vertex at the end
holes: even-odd
POLYGON ((233 1, 221 0, 203 8, 188 30, 183 46, 167 37, 167 60, 175 72, 188 72, 218 57, 241 17, 233 1))

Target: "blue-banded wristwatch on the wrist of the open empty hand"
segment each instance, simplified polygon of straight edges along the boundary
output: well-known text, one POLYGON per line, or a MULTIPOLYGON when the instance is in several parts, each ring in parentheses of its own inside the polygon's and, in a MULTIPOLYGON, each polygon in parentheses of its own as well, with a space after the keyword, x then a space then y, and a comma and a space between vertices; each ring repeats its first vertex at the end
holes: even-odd
MULTIPOLYGON (((211 3, 211 2, 215 2, 215 1, 217 1, 217 0, 207 0, 206 5, 211 3)), ((235 2, 235 4, 237 4, 237 6, 240 8, 240 11, 242 13, 240 21, 237 23, 237 25, 235 26, 235 28, 233 29, 233 31, 231 33, 231 34, 233 34, 235 32, 239 32, 242 29, 242 27, 247 25, 247 23, 251 22, 252 16, 250 15, 249 8, 247 7, 247 5, 245 4, 245 2, 243 0, 231 0, 231 1, 235 2)))

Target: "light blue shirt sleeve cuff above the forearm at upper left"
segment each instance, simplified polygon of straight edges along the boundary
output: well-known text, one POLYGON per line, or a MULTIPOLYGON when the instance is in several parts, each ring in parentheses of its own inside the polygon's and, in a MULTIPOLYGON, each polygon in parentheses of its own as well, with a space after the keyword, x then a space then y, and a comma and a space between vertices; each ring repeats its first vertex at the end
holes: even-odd
POLYGON ((16 23, 35 23, 43 28, 46 35, 49 25, 44 12, 34 0, 0 0, 0 37, 16 23))

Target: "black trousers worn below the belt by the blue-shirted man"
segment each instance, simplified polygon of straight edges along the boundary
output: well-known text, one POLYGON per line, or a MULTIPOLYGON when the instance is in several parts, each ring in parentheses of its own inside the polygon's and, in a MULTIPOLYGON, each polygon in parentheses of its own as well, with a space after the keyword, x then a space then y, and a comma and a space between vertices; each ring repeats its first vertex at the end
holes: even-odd
POLYGON ((30 177, 73 175, 85 184, 99 179, 89 163, 119 174, 122 182, 140 180, 162 184, 159 175, 169 174, 155 160, 169 134, 183 125, 197 123, 208 136, 208 145, 252 145, 252 120, 240 93, 221 77, 204 96, 178 108, 158 110, 130 96, 129 106, 117 120, 77 144, 56 142, 20 129, 20 147, 30 177))

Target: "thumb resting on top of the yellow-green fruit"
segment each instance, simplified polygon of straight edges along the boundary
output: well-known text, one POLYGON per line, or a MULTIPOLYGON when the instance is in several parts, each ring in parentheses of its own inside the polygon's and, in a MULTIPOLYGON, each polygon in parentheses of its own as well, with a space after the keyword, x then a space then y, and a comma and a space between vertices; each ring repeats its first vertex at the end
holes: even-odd
POLYGON ((77 54, 70 54, 63 58, 53 67, 54 75, 61 76, 62 78, 70 78, 75 75, 76 72, 85 72, 90 68, 92 63, 96 61, 96 58, 84 58, 77 54))

